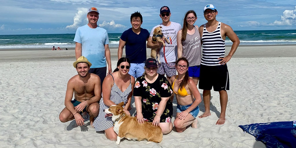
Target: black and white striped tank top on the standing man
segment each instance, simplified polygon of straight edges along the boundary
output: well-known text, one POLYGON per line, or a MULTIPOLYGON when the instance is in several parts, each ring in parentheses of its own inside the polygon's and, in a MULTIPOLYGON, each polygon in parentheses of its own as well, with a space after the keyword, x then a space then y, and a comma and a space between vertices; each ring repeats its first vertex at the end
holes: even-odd
POLYGON ((213 32, 208 32, 204 24, 204 30, 202 33, 202 65, 217 66, 225 55, 225 40, 221 36, 221 22, 218 23, 218 27, 213 32))

